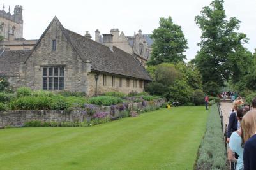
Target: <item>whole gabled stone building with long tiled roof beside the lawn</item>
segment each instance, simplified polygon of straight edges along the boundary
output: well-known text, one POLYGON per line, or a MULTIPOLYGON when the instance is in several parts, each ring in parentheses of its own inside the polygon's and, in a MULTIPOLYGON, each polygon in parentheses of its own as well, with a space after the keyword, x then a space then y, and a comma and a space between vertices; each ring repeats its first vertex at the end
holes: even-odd
POLYGON ((112 45, 65 29, 54 17, 33 50, 0 52, 0 76, 13 87, 69 90, 89 96, 107 91, 142 92, 151 78, 139 60, 112 45))

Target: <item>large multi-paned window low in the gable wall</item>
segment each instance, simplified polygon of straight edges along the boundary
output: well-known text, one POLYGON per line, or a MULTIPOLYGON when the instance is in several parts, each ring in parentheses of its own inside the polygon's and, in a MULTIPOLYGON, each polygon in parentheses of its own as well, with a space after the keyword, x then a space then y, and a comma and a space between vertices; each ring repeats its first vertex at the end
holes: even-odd
POLYGON ((43 90, 64 89, 64 67, 43 67, 43 90))

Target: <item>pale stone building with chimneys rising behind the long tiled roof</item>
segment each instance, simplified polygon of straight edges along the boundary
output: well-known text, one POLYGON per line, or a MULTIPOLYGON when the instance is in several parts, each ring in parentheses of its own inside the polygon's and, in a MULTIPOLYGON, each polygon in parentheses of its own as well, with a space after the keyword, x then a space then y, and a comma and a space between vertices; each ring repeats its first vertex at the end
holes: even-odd
MULTIPOLYGON (((110 34, 113 36, 111 42, 113 46, 134 55, 144 67, 146 66, 152 51, 151 45, 153 44, 149 34, 142 34, 142 31, 139 30, 134 36, 125 36, 123 31, 119 32, 119 29, 111 29, 110 34)), ((105 44, 98 29, 95 31, 95 41, 105 44)))

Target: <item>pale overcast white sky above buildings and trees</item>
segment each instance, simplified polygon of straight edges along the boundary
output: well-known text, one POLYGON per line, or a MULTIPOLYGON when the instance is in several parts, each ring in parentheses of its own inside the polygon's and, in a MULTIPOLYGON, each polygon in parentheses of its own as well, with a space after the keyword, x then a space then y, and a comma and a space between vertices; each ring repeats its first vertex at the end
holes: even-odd
MULTIPOLYGON (((142 34, 151 34, 159 26, 160 17, 171 16, 174 24, 181 25, 189 49, 185 54, 188 60, 195 57, 200 50, 200 29, 195 24, 195 16, 200 15, 202 7, 208 6, 211 0, 8 0, 1 1, 0 9, 5 3, 6 11, 15 5, 22 5, 24 20, 24 38, 39 39, 54 16, 61 24, 79 34, 89 31, 94 39, 94 31, 109 34, 110 29, 118 28, 126 36, 142 29, 142 34)), ((225 0, 227 18, 236 17, 241 21, 238 32, 245 33, 250 39, 245 45, 250 52, 256 48, 256 1, 255 0, 225 0)))

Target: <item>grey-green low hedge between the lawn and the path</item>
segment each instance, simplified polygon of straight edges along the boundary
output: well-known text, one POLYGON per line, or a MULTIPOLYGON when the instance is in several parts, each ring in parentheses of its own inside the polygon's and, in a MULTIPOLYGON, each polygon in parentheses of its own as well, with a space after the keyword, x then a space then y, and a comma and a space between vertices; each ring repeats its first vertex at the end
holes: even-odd
POLYGON ((210 109, 206 132, 199 147, 195 169, 229 169, 216 104, 210 109))

